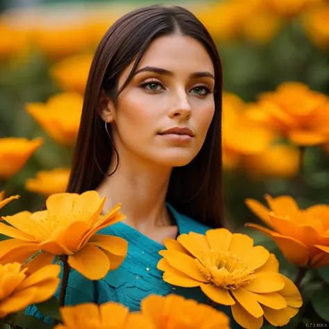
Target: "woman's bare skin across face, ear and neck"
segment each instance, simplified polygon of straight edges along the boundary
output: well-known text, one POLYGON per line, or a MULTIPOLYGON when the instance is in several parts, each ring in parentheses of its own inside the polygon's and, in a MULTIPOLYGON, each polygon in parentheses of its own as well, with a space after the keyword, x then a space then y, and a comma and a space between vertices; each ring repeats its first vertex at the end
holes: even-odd
MULTIPOLYGON (((133 63, 119 77, 119 87, 132 67, 133 63)), ((198 41, 169 35, 151 43, 136 71, 140 72, 120 94, 117 108, 101 99, 100 115, 112 125, 120 165, 98 190, 107 196, 106 209, 123 203, 126 223, 162 243, 172 235, 165 230, 170 225, 165 196, 171 170, 199 153, 214 115, 214 67, 198 41), (174 126, 189 127, 194 137, 158 135, 174 126), (161 228, 158 234, 156 226, 161 228)))

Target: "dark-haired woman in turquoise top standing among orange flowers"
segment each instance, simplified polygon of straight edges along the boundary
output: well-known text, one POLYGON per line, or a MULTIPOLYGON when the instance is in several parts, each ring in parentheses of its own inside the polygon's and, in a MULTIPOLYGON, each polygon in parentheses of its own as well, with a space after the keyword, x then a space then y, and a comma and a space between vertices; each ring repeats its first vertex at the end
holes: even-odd
MULTIPOLYGON (((106 278, 69 276, 66 304, 116 301, 139 310, 149 294, 206 303, 156 265, 165 238, 223 226, 221 62, 208 31, 178 6, 148 6, 113 24, 90 69, 67 192, 96 189, 104 212, 126 215, 100 233, 128 241, 106 278)), ((41 317, 35 308, 30 314, 41 317)), ((231 323, 233 326, 233 323, 231 323)))

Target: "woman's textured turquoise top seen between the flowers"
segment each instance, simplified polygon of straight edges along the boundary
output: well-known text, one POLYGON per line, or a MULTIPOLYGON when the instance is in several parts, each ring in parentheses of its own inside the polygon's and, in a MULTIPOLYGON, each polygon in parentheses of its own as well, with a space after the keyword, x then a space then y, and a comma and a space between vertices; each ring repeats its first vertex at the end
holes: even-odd
MULTIPOLYGON (((176 219, 178 233, 204 234, 208 226, 178 213, 167 203, 167 208, 176 219)), ((129 307, 130 311, 140 310, 140 302, 149 294, 179 294, 185 298, 193 298, 199 303, 207 303, 208 298, 201 292, 199 287, 183 288, 169 285, 162 280, 162 271, 157 269, 158 261, 162 258, 158 253, 165 246, 149 239, 135 228, 125 223, 115 223, 108 228, 99 231, 105 235, 116 235, 128 241, 128 253, 119 269, 109 271, 105 278, 99 281, 87 280, 76 271, 69 274, 69 283, 65 305, 76 305, 80 303, 106 303, 114 301, 129 307)), ((58 292, 56 293, 58 297, 58 292)), ((231 328, 239 328, 232 318, 230 307, 221 308, 230 317, 231 328)), ((27 314, 33 315, 50 323, 37 311, 33 305, 28 307, 27 314)))

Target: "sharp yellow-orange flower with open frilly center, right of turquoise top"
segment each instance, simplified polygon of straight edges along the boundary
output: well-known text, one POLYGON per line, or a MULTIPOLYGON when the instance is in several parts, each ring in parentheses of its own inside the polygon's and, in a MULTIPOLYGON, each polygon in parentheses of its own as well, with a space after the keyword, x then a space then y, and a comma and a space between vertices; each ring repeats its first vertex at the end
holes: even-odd
POLYGON ((248 235, 217 228, 205 235, 190 232, 177 240, 165 239, 165 246, 158 262, 163 280, 201 287, 212 301, 230 305, 244 328, 261 328, 263 316, 273 326, 284 326, 302 305, 294 283, 278 273, 275 256, 263 246, 253 246, 248 235))

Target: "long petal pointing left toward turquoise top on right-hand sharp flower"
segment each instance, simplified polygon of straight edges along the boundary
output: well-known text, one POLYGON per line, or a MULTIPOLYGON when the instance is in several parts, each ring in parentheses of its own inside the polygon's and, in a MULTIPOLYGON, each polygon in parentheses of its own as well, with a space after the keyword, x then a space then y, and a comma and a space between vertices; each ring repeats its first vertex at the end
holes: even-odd
POLYGON ((208 282, 201 271, 199 271, 196 260, 194 260, 192 257, 185 255, 185 253, 177 253, 176 251, 168 250, 159 251, 159 254, 162 255, 172 267, 182 271, 187 276, 190 276, 191 278, 201 282, 208 282))

